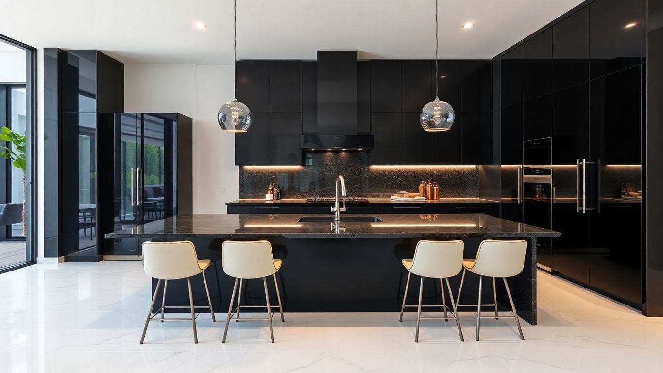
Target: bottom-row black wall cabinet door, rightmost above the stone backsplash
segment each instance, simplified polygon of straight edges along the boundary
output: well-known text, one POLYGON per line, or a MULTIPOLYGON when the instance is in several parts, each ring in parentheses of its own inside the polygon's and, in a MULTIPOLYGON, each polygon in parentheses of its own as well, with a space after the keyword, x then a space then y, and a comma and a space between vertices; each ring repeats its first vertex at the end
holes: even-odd
POLYGON ((462 164, 493 162, 491 118, 491 113, 463 113, 462 164))

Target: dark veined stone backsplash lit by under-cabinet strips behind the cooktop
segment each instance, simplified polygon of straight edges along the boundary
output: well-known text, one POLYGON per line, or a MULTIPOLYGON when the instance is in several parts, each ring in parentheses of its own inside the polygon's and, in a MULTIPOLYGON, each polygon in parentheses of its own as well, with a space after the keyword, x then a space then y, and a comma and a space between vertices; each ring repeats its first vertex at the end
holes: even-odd
POLYGON ((367 152, 305 152, 301 167, 242 166, 239 197, 264 198, 270 182, 281 185, 283 198, 330 197, 338 174, 351 197, 388 198, 428 179, 438 182, 442 198, 479 197, 479 166, 369 166, 367 152))

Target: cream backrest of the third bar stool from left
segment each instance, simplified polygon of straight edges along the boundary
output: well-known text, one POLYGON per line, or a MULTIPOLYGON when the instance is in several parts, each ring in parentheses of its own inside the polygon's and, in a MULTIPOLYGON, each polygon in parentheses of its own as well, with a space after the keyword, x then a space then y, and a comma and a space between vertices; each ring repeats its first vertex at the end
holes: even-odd
POLYGON ((410 272, 428 278, 449 278, 463 269, 463 241, 420 240, 410 272))

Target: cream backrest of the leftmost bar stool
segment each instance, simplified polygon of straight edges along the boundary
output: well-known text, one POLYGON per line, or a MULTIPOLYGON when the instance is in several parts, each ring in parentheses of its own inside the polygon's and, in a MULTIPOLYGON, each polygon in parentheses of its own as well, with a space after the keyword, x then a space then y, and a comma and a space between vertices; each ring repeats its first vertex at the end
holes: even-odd
POLYGON ((191 241, 144 242, 143 269, 148 276, 161 280, 188 278, 202 272, 191 241))

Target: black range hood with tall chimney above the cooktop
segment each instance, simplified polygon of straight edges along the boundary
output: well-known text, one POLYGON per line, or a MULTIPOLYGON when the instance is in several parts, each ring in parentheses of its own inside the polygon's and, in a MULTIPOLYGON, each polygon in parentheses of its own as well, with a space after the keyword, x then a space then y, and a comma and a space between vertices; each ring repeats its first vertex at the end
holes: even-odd
POLYGON ((368 150, 373 135, 358 131, 356 50, 318 50, 317 134, 302 135, 306 150, 368 150))

